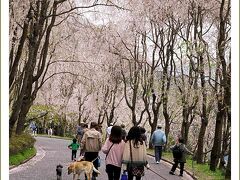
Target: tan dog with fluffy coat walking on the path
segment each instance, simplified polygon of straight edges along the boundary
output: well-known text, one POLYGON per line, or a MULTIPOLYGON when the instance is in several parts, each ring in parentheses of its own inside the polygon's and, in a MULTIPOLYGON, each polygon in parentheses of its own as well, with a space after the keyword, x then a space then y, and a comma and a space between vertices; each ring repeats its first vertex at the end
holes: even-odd
POLYGON ((78 175, 77 179, 79 179, 79 176, 82 172, 85 172, 87 179, 91 180, 92 179, 92 173, 93 171, 101 174, 93 165, 92 162, 89 161, 76 161, 71 163, 68 166, 68 174, 73 173, 73 180, 75 180, 76 174, 78 175))

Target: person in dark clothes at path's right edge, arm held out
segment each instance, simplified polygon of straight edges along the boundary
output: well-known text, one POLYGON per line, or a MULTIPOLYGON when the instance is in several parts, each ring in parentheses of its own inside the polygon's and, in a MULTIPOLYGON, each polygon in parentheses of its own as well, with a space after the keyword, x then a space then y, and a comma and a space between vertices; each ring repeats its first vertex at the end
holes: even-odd
POLYGON ((176 140, 176 144, 172 146, 170 149, 173 152, 174 164, 169 174, 174 175, 174 172, 179 163, 180 164, 179 176, 183 176, 184 164, 186 163, 186 154, 193 155, 193 153, 186 148, 184 144, 184 139, 181 137, 176 140))

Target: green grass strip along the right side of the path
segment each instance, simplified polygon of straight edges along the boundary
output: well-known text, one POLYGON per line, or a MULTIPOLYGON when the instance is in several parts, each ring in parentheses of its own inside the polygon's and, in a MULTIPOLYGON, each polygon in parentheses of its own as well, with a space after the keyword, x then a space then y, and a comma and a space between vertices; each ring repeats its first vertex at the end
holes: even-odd
MULTIPOLYGON (((147 150, 149 154, 154 154, 152 149, 147 150)), ((172 153, 170 152, 163 152, 162 155, 163 159, 166 159, 170 162, 173 162, 172 153)), ((196 161, 192 161, 192 156, 187 156, 187 162, 185 164, 185 169, 191 174, 194 174, 195 177, 199 180, 224 180, 224 173, 223 171, 217 169, 216 172, 209 170, 208 164, 197 164, 196 161)))

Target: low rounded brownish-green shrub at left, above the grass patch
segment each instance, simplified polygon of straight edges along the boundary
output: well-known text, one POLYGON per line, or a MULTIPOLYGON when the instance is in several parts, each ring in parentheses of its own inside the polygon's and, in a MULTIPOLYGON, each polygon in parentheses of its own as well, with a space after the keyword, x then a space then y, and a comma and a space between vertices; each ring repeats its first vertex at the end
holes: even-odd
POLYGON ((33 148, 35 141, 30 134, 13 135, 9 141, 9 155, 15 155, 33 148))

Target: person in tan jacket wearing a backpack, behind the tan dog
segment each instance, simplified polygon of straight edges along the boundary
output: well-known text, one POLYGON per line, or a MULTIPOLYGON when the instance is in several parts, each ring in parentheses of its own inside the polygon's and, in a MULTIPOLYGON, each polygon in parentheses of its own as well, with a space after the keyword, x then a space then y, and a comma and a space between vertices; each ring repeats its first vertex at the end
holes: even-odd
MULTIPOLYGON (((81 151, 84 152, 86 161, 93 161, 93 165, 98 169, 98 153, 102 146, 102 135, 96 130, 96 122, 91 122, 90 129, 83 134, 81 141, 81 151)), ((85 176, 86 177, 86 176, 85 176)), ((96 179, 97 173, 93 172, 93 178, 96 179)))

